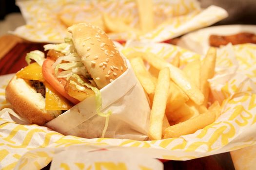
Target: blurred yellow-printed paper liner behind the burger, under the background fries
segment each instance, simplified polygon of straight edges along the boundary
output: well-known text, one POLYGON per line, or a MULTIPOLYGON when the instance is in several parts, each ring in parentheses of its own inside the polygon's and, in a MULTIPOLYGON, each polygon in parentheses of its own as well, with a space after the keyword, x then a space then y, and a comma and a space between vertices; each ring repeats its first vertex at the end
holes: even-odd
MULTIPOLYGON (((102 14, 124 20, 139 28, 135 0, 17 0, 26 21, 12 34, 32 42, 61 43, 68 35, 66 28, 79 22, 90 22, 104 30, 102 14)), ((197 0, 153 0, 154 29, 137 35, 135 31, 109 33, 115 40, 136 39, 162 42, 216 23, 228 16, 217 6, 201 9, 197 0)))

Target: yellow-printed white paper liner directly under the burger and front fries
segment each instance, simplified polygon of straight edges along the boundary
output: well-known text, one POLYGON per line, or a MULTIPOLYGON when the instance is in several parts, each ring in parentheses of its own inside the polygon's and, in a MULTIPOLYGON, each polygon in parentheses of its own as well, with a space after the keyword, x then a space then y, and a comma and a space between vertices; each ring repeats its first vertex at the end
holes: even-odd
MULTIPOLYGON (((149 51, 167 61, 171 61, 179 52, 181 65, 203 58, 194 52, 165 43, 131 42, 120 50, 124 54, 149 51)), ((17 166, 19 169, 33 164, 39 169, 46 166, 60 151, 75 146, 83 147, 84 150, 93 147, 95 150, 129 151, 132 155, 142 153, 169 160, 189 160, 252 146, 256 144, 255 63, 256 45, 228 45, 218 50, 216 75, 210 84, 214 100, 222 101, 221 115, 214 123, 194 134, 177 138, 138 141, 64 136, 44 126, 16 123, 16 119, 9 114, 11 110, 3 109, 0 111, 0 166, 6 169, 17 166)), ((10 79, 11 76, 1 77, 0 103, 5 103, 6 78, 10 79)), ((66 161, 64 159, 63 163, 66 161)))

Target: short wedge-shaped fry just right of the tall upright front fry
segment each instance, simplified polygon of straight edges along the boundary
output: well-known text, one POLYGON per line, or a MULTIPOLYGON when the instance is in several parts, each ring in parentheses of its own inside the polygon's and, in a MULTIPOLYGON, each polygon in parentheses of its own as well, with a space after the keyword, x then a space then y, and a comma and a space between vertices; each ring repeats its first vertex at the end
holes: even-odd
POLYGON ((169 87, 169 96, 166 104, 165 114, 169 119, 177 108, 189 100, 188 96, 171 80, 169 87))

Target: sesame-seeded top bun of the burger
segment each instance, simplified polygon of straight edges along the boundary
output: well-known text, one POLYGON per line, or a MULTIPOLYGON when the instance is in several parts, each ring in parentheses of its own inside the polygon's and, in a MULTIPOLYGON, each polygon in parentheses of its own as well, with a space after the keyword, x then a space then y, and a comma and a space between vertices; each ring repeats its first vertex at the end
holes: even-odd
POLYGON ((127 69, 113 41, 99 27, 79 23, 69 27, 68 31, 85 68, 99 89, 127 69))

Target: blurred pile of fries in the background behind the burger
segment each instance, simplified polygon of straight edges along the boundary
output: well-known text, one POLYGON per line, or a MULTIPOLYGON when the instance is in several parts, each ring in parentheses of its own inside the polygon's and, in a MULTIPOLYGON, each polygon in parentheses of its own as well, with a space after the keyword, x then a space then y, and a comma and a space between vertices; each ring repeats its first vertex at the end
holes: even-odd
POLYGON ((152 31, 154 27, 156 27, 154 24, 153 0, 135 0, 136 8, 138 10, 138 28, 131 26, 131 19, 121 16, 113 17, 109 13, 98 10, 93 4, 94 3, 91 2, 85 9, 79 7, 75 8, 74 5, 68 3, 67 6, 64 6, 59 12, 58 18, 67 27, 79 22, 89 22, 99 26, 107 33, 126 33, 132 31, 140 35, 152 31), (79 17, 87 13, 95 15, 93 16, 93 20, 79 17), (69 16, 67 14, 72 15, 69 16))

